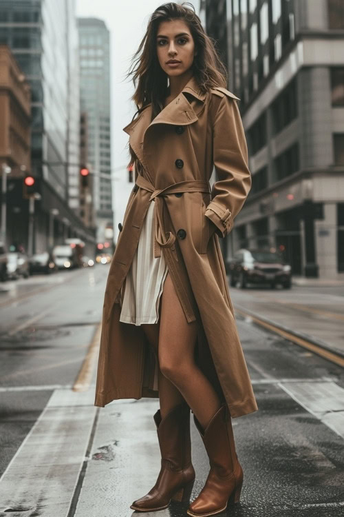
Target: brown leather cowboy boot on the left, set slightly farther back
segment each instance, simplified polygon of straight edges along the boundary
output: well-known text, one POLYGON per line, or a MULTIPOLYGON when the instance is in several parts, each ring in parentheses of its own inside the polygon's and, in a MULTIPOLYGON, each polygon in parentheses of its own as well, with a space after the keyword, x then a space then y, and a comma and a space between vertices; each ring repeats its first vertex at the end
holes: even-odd
POLYGON ((153 488, 133 502, 138 511, 155 511, 169 506, 171 500, 189 503, 195 469, 191 463, 190 408, 178 404, 161 418, 160 409, 153 416, 161 452, 161 469, 153 488))

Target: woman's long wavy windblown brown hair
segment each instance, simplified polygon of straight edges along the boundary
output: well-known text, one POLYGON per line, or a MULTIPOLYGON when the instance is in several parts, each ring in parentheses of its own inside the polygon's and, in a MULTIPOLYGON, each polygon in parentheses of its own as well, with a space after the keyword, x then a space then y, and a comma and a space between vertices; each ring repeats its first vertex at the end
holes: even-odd
MULTIPOLYGON (((182 5, 169 2, 155 9, 149 19, 146 34, 131 61, 127 78, 132 77, 136 88, 131 99, 136 103, 139 114, 147 104, 152 105, 151 119, 155 119, 164 107, 164 99, 168 94, 168 75, 162 70, 156 52, 156 37, 162 21, 183 20, 189 27, 197 55, 193 59, 193 77, 200 86, 202 93, 208 92, 214 86, 227 85, 227 71, 215 50, 215 41, 209 37, 200 18, 195 13, 193 5, 184 2, 182 5)), ((136 156, 130 148, 131 164, 136 156)))

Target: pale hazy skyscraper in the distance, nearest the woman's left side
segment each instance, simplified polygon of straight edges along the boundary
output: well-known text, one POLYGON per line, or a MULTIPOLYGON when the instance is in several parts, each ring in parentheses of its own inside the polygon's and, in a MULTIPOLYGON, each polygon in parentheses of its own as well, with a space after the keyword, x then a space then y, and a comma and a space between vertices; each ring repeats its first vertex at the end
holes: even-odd
POLYGON ((88 159, 93 174, 97 240, 113 227, 111 195, 110 34, 103 20, 78 19, 80 105, 87 114, 88 159))

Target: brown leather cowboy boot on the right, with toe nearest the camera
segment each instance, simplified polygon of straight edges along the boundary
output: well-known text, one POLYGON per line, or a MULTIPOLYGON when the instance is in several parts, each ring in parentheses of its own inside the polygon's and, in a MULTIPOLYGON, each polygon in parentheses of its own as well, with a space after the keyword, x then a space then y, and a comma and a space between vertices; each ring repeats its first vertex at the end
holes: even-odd
POLYGON ((226 404, 222 404, 204 431, 195 415, 193 419, 206 448, 211 469, 204 487, 187 513, 193 517, 211 516, 226 510, 228 502, 239 503, 243 472, 235 452, 226 404))

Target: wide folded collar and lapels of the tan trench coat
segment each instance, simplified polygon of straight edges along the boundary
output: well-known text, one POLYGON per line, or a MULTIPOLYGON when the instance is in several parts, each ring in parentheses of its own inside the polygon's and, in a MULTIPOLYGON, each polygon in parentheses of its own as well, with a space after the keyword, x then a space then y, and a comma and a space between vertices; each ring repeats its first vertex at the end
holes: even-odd
MULTIPOLYGON (((147 128, 149 125, 157 124, 157 123, 165 123, 165 124, 173 124, 173 125, 187 125, 191 124, 198 120, 197 114, 193 110, 193 107, 186 99, 184 93, 191 94, 195 99, 199 101, 204 101, 206 98, 206 94, 200 91, 200 87, 197 85, 195 77, 191 77, 189 81, 186 83, 182 92, 178 94, 173 101, 171 101, 166 107, 155 116, 153 121, 147 124, 147 128)), ((151 119, 151 103, 147 104, 144 107, 142 112, 138 115, 138 117, 131 121, 128 125, 123 128, 127 134, 131 134, 133 132, 133 128, 136 126, 138 121, 142 119, 147 119, 147 121, 151 119)))

